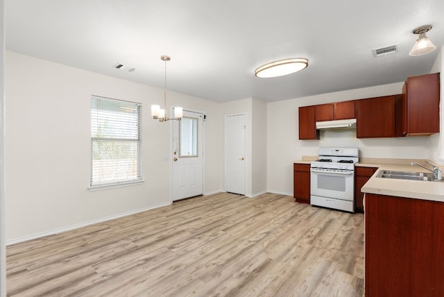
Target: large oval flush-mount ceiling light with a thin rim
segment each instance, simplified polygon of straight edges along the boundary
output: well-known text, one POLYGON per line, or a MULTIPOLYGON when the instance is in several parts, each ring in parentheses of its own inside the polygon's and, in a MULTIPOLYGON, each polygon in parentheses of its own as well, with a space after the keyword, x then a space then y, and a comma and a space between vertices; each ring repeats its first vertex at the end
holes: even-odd
POLYGON ((289 58, 267 63, 255 70, 255 76, 260 78, 284 76, 293 74, 307 68, 308 59, 306 58, 289 58))

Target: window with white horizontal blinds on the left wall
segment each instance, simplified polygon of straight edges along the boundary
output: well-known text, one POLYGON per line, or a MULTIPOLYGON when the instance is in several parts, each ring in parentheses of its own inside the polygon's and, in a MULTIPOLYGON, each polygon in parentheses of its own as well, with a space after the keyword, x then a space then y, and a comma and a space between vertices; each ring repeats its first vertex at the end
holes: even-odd
POLYGON ((139 103, 92 96, 92 188, 142 181, 141 108, 139 103))

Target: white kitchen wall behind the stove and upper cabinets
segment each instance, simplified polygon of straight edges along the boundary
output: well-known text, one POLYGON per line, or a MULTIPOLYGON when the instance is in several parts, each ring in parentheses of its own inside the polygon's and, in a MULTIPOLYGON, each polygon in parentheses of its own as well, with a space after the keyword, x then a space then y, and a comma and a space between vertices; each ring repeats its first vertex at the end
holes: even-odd
POLYGON ((293 161, 318 155, 320 146, 357 146, 364 158, 427 159, 429 137, 357 139, 355 130, 321 131, 318 140, 298 139, 298 108, 402 93, 402 82, 268 103, 268 192, 293 195, 293 161))

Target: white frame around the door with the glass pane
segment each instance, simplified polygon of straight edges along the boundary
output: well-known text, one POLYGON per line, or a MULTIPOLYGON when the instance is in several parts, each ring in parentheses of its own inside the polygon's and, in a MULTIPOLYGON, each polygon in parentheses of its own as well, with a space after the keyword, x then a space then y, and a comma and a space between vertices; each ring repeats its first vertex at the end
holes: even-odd
MULTIPOLYGON (((194 110, 194 109, 191 109, 191 108, 183 108, 183 111, 187 111, 187 112, 195 112, 195 113, 200 113, 200 114, 203 114, 203 120, 202 120, 202 194, 204 195, 205 194, 205 118, 206 118, 206 115, 205 115, 205 112, 203 112, 203 111, 200 111, 200 110, 194 110)), ((171 117, 173 117, 173 114, 174 114, 174 108, 173 107, 171 107, 170 109, 169 109, 169 114, 171 114, 171 117)), ((174 183, 174 180, 173 180, 173 170, 174 170, 174 167, 173 167, 173 151, 174 151, 174 148, 173 148, 173 145, 174 145, 174 142, 173 142, 173 122, 174 121, 176 121, 176 120, 172 120, 171 121, 171 123, 170 123, 170 125, 169 125, 169 135, 170 135, 170 137, 169 137, 169 155, 168 155, 168 160, 169 160, 169 168, 170 168, 170 178, 169 178, 169 202, 170 202, 170 204, 172 204, 173 203, 173 183, 174 183)))

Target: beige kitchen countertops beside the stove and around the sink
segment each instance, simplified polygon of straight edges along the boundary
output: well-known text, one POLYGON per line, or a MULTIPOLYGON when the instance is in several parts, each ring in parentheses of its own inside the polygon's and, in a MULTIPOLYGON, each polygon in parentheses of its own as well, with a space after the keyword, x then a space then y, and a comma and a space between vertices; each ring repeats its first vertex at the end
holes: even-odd
MULTIPOLYGON (((309 164, 312 160, 316 160, 316 157, 302 156, 302 160, 294 163, 309 164)), ((355 164, 356 167, 378 168, 364 187, 361 188, 361 192, 444 202, 444 181, 430 182, 376 177, 381 170, 429 172, 422 167, 411 165, 411 162, 425 164, 426 160, 359 158, 359 163, 355 164)), ((443 166, 439 167, 444 171, 443 166)))

